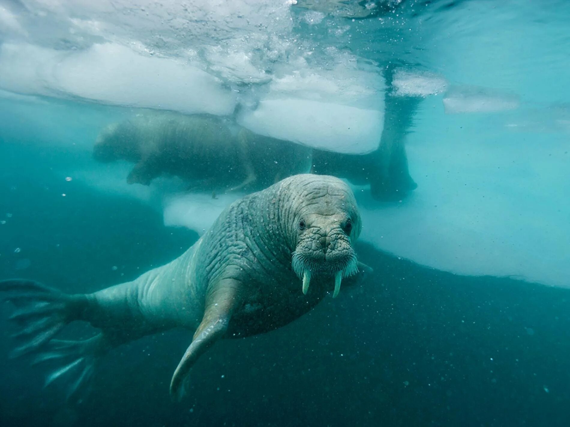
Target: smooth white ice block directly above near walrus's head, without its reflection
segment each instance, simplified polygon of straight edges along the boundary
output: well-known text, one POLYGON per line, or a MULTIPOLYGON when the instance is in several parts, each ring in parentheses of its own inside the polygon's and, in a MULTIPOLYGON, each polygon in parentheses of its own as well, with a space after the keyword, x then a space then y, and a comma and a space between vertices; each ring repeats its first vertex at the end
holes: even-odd
POLYGON ((368 153, 378 148, 384 112, 304 99, 259 103, 238 123, 260 135, 340 153, 368 153))

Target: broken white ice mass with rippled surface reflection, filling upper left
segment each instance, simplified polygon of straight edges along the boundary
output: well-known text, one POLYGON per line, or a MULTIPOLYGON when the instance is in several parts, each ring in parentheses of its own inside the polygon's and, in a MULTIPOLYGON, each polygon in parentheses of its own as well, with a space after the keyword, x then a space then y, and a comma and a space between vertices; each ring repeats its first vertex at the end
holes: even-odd
POLYGON ((382 133, 380 70, 299 39, 294 19, 291 2, 10 3, 0 9, 0 88, 189 114, 231 116, 239 106, 254 132, 372 151, 382 133))

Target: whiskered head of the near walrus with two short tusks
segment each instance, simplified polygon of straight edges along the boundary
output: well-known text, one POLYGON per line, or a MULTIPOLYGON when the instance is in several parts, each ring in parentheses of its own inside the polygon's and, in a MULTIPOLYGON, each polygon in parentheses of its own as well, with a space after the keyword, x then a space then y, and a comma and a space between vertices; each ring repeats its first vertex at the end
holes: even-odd
MULTIPOLYGON (((358 273, 353 243, 361 219, 355 197, 345 182, 332 176, 301 175, 302 191, 292 200, 291 266, 306 294, 315 276, 334 280, 336 297, 344 278, 358 273)), ((332 283, 331 283, 332 284, 332 283)))

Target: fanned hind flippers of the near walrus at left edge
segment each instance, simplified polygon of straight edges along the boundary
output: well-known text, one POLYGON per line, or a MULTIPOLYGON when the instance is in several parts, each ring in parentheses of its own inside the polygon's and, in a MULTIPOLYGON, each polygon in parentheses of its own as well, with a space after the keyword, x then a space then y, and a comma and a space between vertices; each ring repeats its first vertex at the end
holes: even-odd
POLYGON ((60 377, 70 379, 67 398, 72 400, 84 389, 92 375, 95 362, 105 348, 103 335, 84 341, 54 340, 68 323, 78 320, 86 307, 83 295, 67 295, 34 280, 10 279, 0 281, 3 300, 14 304, 16 310, 9 320, 18 331, 13 335, 17 347, 11 357, 31 355, 32 364, 44 361, 63 361, 55 368, 45 385, 60 377), (66 375, 67 374, 67 375, 66 375), (77 375, 72 379, 72 375, 77 375))

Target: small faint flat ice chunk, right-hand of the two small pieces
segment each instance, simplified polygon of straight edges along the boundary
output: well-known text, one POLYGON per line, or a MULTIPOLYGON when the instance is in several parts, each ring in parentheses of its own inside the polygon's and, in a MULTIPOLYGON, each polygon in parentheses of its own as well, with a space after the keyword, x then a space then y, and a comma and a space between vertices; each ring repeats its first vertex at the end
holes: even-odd
POLYGON ((518 108, 519 103, 514 93, 477 86, 451 87, 443 97, 443 107, 449 114, 506 111, 518 108))

